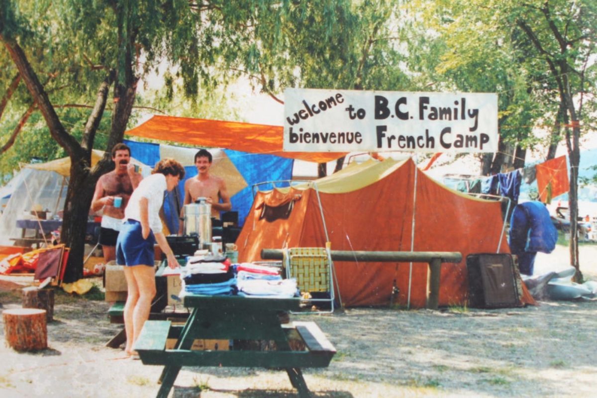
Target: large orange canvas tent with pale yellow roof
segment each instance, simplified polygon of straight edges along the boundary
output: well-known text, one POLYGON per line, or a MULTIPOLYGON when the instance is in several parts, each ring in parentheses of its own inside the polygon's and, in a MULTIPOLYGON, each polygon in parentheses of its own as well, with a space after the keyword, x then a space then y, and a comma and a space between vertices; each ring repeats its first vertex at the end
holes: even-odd
MULTIPOLYGON (((308 186, 258 192, 236 244, 239 261, 258 261, 263 248, 323 247, 327 229, 332 250, 411 251, 413 240, 413 251, 458 251, 461 263, 442 265, 439 304, 463 305, 466 256, 508 253, 503 225, 499 202, 448 189, 418 171, 411 159, 387 159, 350 165, 308 186), (276 219, 276 209, 285 214, 276 219)), ((394 283, 399 289, 394 302, 406 305, 409 279, 410 306, 425 306, 426 263, 413 264, 412 273, 409 263, 336 261, 335 266, 346 306, 387 305, 394 283)), ((534 303, 528 292, 526 300, 534 303)))

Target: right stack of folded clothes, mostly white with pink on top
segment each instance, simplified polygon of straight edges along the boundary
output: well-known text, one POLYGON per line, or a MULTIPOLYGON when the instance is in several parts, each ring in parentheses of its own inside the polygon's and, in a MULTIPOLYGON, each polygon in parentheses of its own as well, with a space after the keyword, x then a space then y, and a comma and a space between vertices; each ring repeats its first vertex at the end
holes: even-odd
POLYGON ((300 295, 296 279, 282 279, 275 267, 243 263, 235 268, 239 296, 290 298, 300 295))

